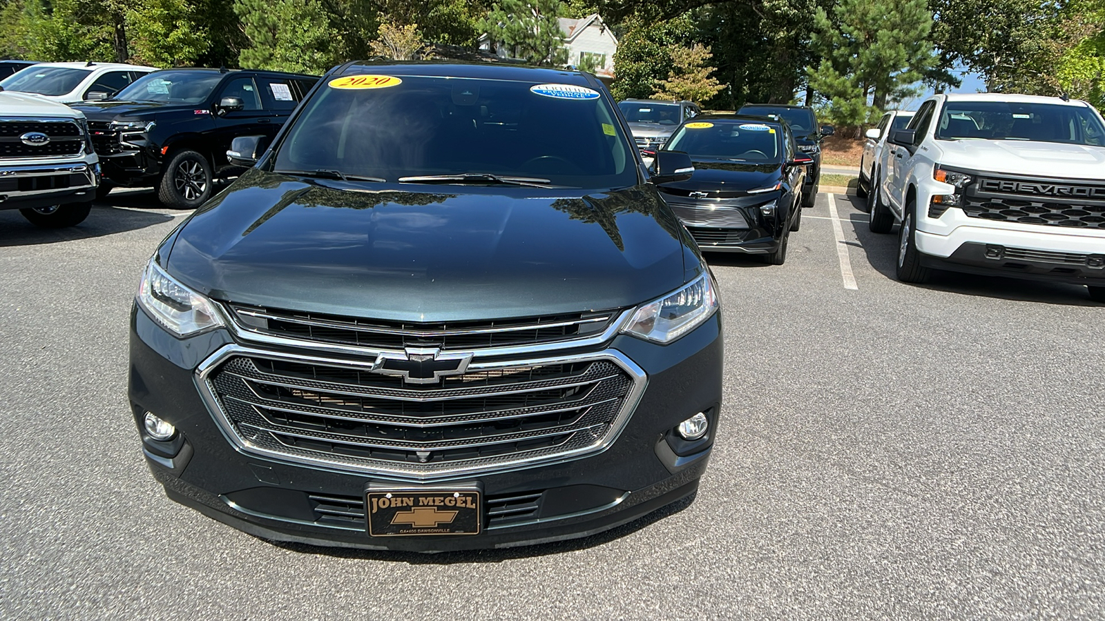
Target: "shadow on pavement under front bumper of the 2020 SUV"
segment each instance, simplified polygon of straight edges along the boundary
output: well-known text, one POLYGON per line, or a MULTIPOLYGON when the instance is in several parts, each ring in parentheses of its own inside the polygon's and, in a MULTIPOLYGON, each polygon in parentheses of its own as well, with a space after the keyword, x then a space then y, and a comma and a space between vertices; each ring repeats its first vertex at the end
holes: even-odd
POLYGON ((328 548, 322 546, 311 546, 306 544, 269 541, 267 539, 265 539, 265 541, 291 551, 325 555, 335 558, 387 560, 396 562, 407 562, 410 565, 454 565, 459 562, 499 562, 503 560, 511 560, 516 558, 533 558, 539 556, 582 550, 587 548, 592 548, 594 546, 601 546, 614 539, 619 539, 632 533, 636 533, 638 530, 651 526, 652 524, 661 519, 664 519, 666 517, 670 517, 672 515, 682 512, 683 509, 690 507, 692 503, 694 503, 696 495, 697 492, 691 494, 690 496, 683 499, 676 501, 665 507, 661 507, 650 513, 649 515, 639 517, 633 522, 630 522, 629 524, 623 524, 615 528, 611 528, 610 530, 599 533, 598 535, 581 537, 579 539, 569 539, 567 541, 556 541, 552 544, 538 544, 534 546, 522 546, 517 548, 422 554, 422 552, 386 551, 386 550, 361 550, 357 548, 328 548))

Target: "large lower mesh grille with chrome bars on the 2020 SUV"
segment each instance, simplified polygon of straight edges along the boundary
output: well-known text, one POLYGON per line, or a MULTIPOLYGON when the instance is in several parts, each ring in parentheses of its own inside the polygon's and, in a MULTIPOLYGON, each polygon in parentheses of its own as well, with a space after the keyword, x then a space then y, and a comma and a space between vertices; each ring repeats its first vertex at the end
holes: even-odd
POLYGON ((404 385, 356 364, 241 354, 206 381, 248 448, 417 476, 597 446, 633 386, 608 359, 519 362, 444 380, 404 385))

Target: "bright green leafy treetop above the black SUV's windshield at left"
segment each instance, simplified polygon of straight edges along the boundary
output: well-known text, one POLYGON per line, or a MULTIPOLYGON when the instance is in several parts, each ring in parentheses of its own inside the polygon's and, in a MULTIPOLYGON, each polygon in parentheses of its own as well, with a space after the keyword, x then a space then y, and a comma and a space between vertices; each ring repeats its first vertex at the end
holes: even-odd
POLYGON ((140 0, 127 10, 131 62, 194 65, 210 48, 207 28, 187 0, 140 0))

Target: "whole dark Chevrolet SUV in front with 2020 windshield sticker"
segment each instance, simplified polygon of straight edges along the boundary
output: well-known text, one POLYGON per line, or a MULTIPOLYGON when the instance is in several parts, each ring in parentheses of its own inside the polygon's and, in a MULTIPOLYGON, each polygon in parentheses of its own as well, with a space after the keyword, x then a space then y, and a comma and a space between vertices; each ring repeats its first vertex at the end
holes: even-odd
POLYGON ((629 136, 586 73, 333 70, 143 276, 129 402, 169 497, 269 539, 435 551, 693 494, 716 285, 655 187, 691 159, 650 176, 629 136))

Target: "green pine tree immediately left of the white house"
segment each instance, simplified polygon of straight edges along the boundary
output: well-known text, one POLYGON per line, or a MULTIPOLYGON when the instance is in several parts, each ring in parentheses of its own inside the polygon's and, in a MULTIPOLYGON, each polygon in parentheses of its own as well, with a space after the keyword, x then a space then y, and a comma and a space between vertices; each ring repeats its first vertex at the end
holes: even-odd
POLYGON ((560 0, 499 0, 480 29, 511 56, 533 65, 562 65, 568 51, 557 18, 564 17, 564 9, 560 0))

